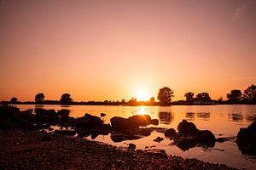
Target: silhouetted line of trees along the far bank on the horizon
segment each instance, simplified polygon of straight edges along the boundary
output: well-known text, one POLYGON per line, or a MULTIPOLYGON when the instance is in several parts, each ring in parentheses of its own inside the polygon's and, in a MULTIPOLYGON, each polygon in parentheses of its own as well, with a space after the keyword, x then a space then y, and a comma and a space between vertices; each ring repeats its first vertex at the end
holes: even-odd
POLYGON ((60 100, 44 100, 43 93, 35 95, 34 102, 20 102, 17 98, 12 98, 10 101, 2 101, 2 103, 10 104, 37 104, 37 105, 227 105, 227 104, 256 104, 256 85, 252 84, 246 88, 243 93, 240 89, 232 89, 229 94, 226 94, 227 100, 223 100, 220 97, 218 100, 211 99, 210 94, 202 92, 196 94, 194 97, 193 92, 184 94, 186 100, 172 101, 174 97, 174 91, 172 88, 164 87, 160 88, 157 95, 159 102, 156 102, 154 97, 151 97, 148 101, 137 101, 136 98, 132 98, 129 101, 122 99, 121 101, 88 101, 88 102, 76 102, 73 101, 70 94, 62 94, 60 100))

